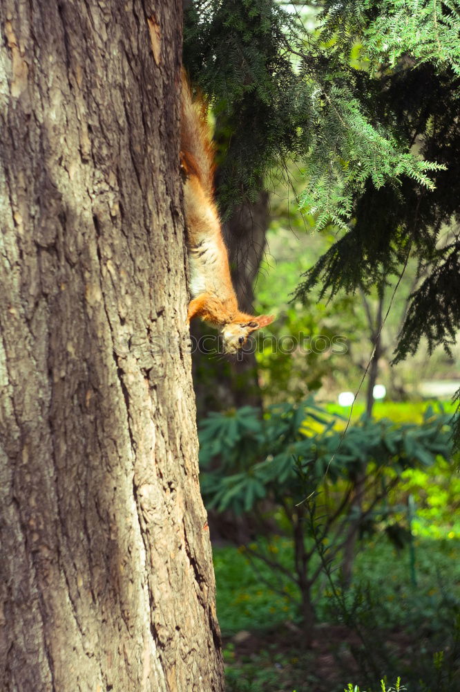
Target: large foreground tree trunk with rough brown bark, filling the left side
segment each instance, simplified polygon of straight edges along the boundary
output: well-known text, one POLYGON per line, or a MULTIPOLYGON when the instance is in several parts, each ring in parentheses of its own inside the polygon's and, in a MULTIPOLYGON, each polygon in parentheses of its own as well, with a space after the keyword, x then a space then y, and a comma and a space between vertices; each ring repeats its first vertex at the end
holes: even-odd
POLYGON ((180 0, 1 3, 2 691, 223 689, 181 23, 180 0))

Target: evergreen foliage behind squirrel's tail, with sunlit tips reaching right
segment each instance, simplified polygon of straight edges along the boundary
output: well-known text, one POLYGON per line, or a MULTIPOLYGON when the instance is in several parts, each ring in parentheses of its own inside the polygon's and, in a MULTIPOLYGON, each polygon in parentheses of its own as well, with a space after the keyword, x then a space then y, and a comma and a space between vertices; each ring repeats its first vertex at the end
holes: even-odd
POLYGON ((256 194, 260 179, 287 156, 304 168, 302 206, 316 227, 343 229, 356 192, 409 176, 433 187, 433 161, 408 152, 392 129, 369 117, 367 73, 340 44, 307 32, 273 0, 195 0, 186 13, 184 64, 222 116, 228 149, 218 194, 224 210, 256 194))

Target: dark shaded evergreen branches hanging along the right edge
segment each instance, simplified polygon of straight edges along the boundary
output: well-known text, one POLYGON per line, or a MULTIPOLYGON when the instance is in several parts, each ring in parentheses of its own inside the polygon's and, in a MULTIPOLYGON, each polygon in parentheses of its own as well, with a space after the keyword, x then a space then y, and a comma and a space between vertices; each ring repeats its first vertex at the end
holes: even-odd
POLYGON ((456 83, 448 71, 440 75, 428 64, 417 69, 402 65, 381 77, 372 109, 387 118, 390 102, 399 138, 417 141, 422 156, 436 158, 448 170, 434 174, 436 190, 429 194, 408 177, 380 190, 367 184, 356 198, 349 230, 307 270, 296 292, 298 300, 314 289, 321 300, 336 300, 342 291, 349 295, 358 287, 366 293, 372 286, 383 290, 403 275, 408 262, 415 262, 420 278, 396 346, 398 362, 414 354, 422 338, 428 339, 430 352, 437 345, 449 352, 460 327, 460 244, 454 226, 448 226, 460 218, 456 83))

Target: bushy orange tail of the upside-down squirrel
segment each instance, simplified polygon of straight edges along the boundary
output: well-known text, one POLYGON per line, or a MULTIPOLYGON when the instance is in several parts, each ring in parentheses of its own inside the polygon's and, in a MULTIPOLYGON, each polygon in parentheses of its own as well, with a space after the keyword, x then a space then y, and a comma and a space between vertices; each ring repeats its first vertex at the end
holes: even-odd
POLYGON ((186 174, 198 177, 204 192, 213 197, 214 147, 207 122, 207 104, 193 100, 189 80, 182 70, 180 155, 186 174))

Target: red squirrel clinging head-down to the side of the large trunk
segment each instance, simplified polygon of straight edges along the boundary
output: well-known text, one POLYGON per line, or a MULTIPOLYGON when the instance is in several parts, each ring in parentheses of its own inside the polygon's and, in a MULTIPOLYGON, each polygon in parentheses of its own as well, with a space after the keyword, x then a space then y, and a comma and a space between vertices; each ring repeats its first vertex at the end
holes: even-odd
POLYGON ((224 351, 236 353, 249 334, 273 322, 274 316, 253 316, 238 309, 231 283, 229 257, 214 201, 214 149, 203 100, 193 100, 182 73, 180 162, 184 172, 192 300, 188 320, 198 316, 222 335, 224 351))

